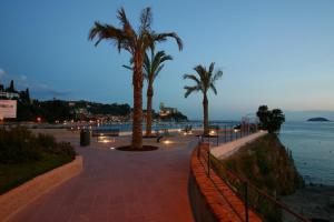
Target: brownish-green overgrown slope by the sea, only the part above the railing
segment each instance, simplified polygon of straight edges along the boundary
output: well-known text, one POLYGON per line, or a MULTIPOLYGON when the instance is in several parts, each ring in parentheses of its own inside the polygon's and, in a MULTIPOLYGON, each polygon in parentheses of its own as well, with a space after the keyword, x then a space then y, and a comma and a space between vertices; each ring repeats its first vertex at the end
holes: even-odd
POLYGON ((275 134, 246 144, 223 163, 271 194, 287 195, 304 186, 292 153, 275 134))

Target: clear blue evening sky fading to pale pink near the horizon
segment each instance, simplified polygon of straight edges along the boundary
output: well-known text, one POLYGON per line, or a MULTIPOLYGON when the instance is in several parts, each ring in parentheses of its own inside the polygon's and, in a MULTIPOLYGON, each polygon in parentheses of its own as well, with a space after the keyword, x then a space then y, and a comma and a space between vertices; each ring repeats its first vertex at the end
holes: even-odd
POLYGON ((0 82, 13 79, 41 100, 131 104, 131 73, 122 68, 129 53, 88 41, 95 21, 119 26, 120 7, 135 28, 140 11, 151 7, 153 29, 175 31, 184 41, 183 51, 174 41, 158 46, 174 60, 155 82, 155 109, 164 102, 200 119, 202 94, 184 98, 183 88, 191 82, 183 74, 215 62, 224 75, 218 94, 209 93, 210 119, 238 119, 261 104, 334 111, 332 0, 1 0, 0 82))

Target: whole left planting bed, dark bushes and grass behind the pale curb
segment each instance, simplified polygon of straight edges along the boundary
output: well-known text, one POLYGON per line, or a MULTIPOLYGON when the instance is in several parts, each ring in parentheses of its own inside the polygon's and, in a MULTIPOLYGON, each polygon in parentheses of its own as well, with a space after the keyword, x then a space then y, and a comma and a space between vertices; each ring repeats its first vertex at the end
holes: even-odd
POLYGON ((73 148, 52 135, 24 128, 0 129, 0 194, 76 157, 73 148))

